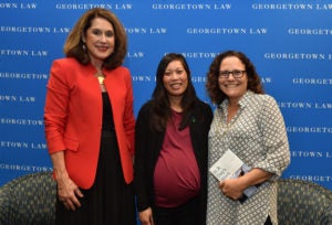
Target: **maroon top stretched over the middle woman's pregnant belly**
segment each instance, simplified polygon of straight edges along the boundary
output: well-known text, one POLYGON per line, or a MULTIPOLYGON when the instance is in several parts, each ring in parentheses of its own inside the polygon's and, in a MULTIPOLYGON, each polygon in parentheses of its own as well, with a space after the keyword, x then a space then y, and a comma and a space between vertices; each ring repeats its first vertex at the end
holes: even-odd
POLYGON ((179 206, 197 196, 200 189, 189 127, 178 130, 180 120, 181 114, 173 111, 155 168, 155 197, 160 207, 179 206))

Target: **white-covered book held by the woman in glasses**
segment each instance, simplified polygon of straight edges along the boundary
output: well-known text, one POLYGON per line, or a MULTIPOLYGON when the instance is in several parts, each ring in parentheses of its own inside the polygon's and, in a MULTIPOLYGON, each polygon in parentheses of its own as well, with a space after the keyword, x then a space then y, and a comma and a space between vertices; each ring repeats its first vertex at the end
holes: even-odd
MULTIPOLYGON (((243 161, 238 158, 231 150, 227 150, 217 162, 215 162, 209 172, 214 174, 214 176, 218 181, 224 181, 225 179, 232 179, 243 175, 245 173, 251 170, 243 161)), ((259 185, 249 186, 243 191, 243 197, 239 201, 245 202, 249 196, 255 194, 259 185)))

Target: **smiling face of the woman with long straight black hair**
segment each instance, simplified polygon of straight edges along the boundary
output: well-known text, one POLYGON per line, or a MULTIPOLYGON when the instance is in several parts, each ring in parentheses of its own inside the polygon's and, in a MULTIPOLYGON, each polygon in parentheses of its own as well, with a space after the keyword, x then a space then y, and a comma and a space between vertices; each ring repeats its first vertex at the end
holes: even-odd
POLYGON ((164 73, 163 84, 168 97, 181 97, 188 87, 188 76, 180 61, 170 62, 164 73))

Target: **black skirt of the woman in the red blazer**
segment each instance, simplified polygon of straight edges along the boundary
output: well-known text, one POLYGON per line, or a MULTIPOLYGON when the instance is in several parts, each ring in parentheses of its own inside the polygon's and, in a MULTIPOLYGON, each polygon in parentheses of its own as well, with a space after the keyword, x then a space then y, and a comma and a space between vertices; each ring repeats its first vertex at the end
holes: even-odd
POLYGON ((56 202, 58 225, 134 225, 136 224, 133 183, 124 181, 116 136, 103 131, 96 178, 90 190, 81 190, 82 206, 69 211, 56 202))

